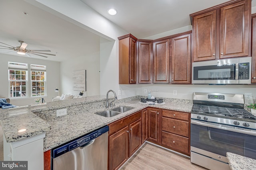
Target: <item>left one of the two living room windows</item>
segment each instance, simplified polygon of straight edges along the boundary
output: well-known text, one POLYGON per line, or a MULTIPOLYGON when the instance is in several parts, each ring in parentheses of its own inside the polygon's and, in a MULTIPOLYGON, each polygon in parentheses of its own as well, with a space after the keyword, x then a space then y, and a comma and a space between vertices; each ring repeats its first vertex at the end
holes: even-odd
POLYGON ((27 97, 28 64, 8 62, 10 98, 27 97))

